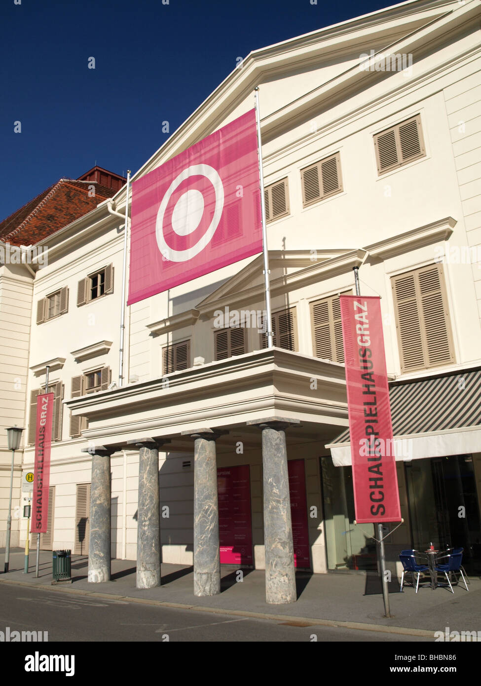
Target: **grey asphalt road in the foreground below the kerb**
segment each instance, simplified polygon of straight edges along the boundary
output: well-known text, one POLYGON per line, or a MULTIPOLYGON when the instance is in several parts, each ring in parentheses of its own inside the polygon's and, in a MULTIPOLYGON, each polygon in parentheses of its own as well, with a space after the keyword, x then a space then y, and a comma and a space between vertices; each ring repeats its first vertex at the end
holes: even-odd
MULTIPOLYGON (((283 619, 211 614, 0 584, 0 631, 48 631, 49 641, 425 641, 283 619), (313 639, 313 635, 316 639, 313 639)), ((40 646, 36 646, 36 649, 40 646)))

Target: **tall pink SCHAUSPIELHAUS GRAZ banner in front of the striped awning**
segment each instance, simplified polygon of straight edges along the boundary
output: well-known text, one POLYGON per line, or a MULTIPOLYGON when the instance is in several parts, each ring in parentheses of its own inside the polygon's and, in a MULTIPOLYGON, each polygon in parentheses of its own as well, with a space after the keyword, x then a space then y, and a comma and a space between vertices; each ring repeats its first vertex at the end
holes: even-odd
POLYGON ((355 519, 401 521, 380 298, 340 296, 355 519))

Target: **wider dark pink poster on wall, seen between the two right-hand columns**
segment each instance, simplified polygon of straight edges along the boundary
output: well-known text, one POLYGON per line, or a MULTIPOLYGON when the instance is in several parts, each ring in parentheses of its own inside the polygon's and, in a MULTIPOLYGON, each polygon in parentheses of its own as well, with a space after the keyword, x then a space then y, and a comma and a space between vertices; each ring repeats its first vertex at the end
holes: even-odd
POLYGON ((253 564, 248 464, 219 467, 219 543, 221 565, 253 564))

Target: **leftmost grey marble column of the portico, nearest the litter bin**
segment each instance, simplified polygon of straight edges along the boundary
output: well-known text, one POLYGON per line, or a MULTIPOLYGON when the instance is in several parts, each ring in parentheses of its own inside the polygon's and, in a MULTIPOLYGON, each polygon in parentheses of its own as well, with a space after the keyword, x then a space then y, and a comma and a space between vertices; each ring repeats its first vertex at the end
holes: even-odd
POLYGON ((87 579, 94 584, 110 581, 110 457, 117 451, 113 445, 82 449, 92 456, 87 579))

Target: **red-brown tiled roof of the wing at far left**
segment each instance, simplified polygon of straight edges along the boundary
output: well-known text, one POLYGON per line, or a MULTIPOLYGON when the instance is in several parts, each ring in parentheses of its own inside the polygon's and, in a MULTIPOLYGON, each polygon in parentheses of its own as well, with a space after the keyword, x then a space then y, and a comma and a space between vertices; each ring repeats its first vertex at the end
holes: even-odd
POLYGON ((61 178, 0 222, 0 240, 14 246, 30 246, 95 209, 114 191, 93 181, 61 178), (95 196, 89 197, 89 186, 95 196))

